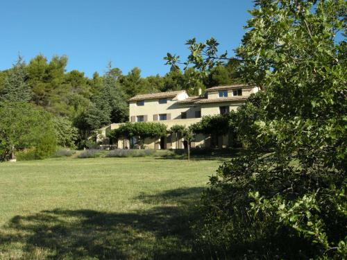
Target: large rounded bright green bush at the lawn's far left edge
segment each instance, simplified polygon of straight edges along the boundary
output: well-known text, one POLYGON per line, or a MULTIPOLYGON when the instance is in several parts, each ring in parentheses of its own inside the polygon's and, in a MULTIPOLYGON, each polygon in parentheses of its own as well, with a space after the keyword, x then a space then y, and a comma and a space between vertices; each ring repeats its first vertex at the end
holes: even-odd
POLYGON ((48 157, 56 149, 51 116, 29 103, 1 103, 0 156, 10 159, 18 149, 35 149, 35 159, 48 157))

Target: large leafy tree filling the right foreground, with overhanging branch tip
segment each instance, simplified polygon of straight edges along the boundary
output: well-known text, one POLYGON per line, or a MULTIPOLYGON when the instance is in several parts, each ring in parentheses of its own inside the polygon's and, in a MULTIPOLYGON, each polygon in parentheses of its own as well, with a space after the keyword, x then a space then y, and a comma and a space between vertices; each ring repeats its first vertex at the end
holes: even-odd
MULTIPOLYGON (((223 164, 203 195, 198 245, 212 257, 346 257, 346 10, 255 1, 236 53, 246 83, 266 92, 237 113, 249 154, 223 164)), ((226 58, 217 42, 188 44, 196 69, 226 58)))

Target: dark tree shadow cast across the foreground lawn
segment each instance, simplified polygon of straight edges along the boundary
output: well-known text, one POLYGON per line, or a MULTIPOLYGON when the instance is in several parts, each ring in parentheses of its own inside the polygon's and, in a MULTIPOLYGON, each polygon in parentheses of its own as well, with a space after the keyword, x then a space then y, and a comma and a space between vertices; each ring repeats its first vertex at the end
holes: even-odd
POLYGON ((1 229, 0 257, 196 259, 189 223, 202 189, 141 194, 138 200, 161 206, 135 213, 53 209, 15 216, 1 229))

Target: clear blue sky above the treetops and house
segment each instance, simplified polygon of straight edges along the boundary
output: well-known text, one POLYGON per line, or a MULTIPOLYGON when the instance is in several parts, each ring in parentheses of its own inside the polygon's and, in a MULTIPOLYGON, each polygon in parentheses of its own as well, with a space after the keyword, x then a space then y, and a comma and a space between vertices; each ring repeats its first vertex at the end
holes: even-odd
POLYGON ((108 62, 142 76, 169 71, 169 51, 185 57, 185 41, 211 36, 220 50, 239 46, 251 0, 10 0, 0 7, 0 70, 21 53, 67 55, 67 71, 103 73, 108 62))

